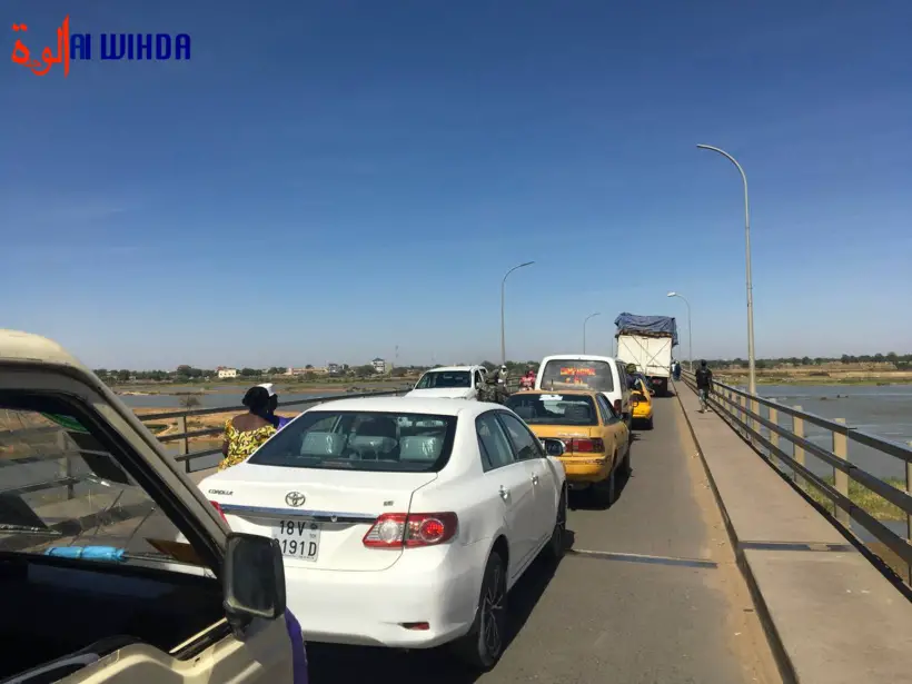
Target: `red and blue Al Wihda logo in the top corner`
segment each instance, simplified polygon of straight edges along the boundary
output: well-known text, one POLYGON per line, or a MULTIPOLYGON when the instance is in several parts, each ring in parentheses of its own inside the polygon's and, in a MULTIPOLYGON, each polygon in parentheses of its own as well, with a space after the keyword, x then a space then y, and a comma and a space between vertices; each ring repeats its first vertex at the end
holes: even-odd
POLYGON ((60 65, 63 77, 70 73, 70 62, 91 61, 170 61, 190 59, 188 33, 71 33, 70 16, 57 29, 57 53, 50 47, 41 50, 28 48, 26 23, 13 23, 17 33, 11 59, 20 67, 31 69, 36 76, 46 76, 51 67, 60 65), (23 42, 26 39, 26 42, 23 42))

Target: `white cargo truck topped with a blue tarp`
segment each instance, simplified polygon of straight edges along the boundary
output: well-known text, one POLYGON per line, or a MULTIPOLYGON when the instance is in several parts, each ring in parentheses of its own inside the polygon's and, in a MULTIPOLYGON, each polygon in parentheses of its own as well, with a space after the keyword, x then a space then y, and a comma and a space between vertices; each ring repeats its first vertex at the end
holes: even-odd
POLYGON ((677 346, 677 326, 668 316, 621 314, 614 321, 615 357, 634 364, 658 396, 668 395, 672 349, 677 346))

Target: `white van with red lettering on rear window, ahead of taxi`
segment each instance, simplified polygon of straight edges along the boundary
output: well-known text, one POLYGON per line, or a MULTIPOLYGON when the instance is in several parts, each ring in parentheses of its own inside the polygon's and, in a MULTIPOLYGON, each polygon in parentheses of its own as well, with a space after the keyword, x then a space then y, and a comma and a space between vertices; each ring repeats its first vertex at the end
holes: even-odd
POLYGON ((592 389, 631 425, 631 389, 624 363, 611 356, 555 354, 542 359, 535 389, 592 389))

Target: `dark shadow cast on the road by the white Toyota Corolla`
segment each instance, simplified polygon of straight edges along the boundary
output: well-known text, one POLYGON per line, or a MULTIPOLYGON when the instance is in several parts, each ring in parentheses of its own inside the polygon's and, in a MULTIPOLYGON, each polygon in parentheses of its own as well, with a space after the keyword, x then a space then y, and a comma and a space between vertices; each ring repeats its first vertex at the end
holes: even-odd
MULTIPOLYGON (((573 546, 567 532, 565 545, 573 546)), ((538 599, 551 583, 557 566, 538 557, 509 594, 507 648, 526 624, 538 599)), ((394 651, 308 644, 307 660, 311 684, 369 681, 370 684, 472 684, 480 674, 462 666, 446 647, 432 651, 394 651)), ((495 668, 496 670, 496 668, 495 668)))

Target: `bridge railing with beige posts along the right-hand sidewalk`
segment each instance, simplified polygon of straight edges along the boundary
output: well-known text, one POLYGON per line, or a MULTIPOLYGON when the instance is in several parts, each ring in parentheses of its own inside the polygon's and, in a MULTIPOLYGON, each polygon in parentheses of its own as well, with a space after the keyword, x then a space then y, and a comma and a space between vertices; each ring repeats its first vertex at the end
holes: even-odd
MULTIPOLYGON (((683 371, 682 377, 696 389, 693 374, 683 371)), ((710 404, 723 419, 846 531, 854 534, 854 522, 885 546, 889 551, 875 553, 912 583, 912 448, 842 418, 824 418, 717 380, 713 386, 710 404), (786 425, 781 424, 783 417, 786 425), (903 488, 852 463, 850 445, 888 457, 886 469, 901 474, 891 479, 903 488), (814 458, 810 464, 809 455, 814 458), (884 524, 891 521, 898 524, 884 524)))

